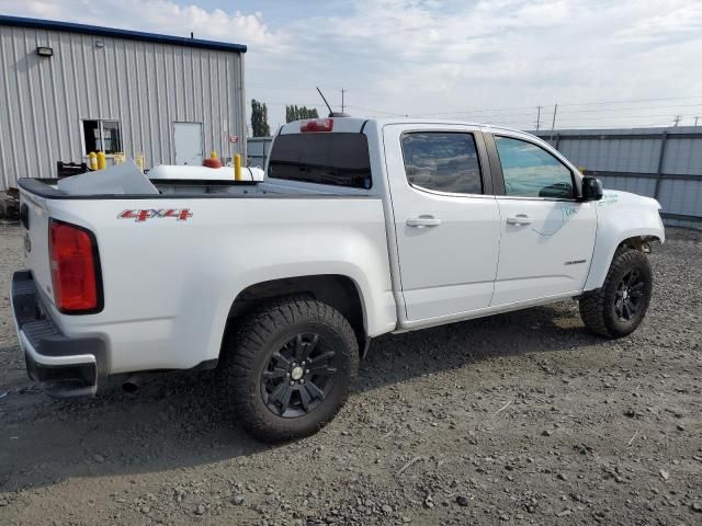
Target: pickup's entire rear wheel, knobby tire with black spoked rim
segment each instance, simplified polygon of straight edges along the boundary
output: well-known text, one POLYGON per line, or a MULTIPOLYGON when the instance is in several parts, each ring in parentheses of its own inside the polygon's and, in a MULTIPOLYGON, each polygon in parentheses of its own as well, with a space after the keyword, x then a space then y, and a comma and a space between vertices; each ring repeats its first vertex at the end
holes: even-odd
POLYGON ((341 409, 355 378, 351 324, 312 299, 280 301, 227 338, 217 377, 246 431, 264 442, 310 435, 341 409))

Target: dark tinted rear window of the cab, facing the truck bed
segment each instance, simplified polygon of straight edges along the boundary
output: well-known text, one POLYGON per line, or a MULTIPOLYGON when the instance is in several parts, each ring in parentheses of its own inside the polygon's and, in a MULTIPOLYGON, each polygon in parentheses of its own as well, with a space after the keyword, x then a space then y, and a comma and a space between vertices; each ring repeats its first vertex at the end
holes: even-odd
POLYGON ((369 190, 373 184, 365 135, 306 133, 279 135, 268 176, 285 181, 369 190))

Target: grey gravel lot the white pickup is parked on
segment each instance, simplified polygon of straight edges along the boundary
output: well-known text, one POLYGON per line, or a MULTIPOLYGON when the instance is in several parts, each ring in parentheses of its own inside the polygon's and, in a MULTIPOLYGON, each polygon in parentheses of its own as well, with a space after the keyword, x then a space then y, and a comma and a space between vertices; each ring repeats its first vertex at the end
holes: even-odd
POLYGON ((702 524, 702 233, 669 229, 631 338, 575 302, 373 343, 335 422, 282 446, 206 373, 53 401, 24 373, 0 227, 1 524, 702 524))

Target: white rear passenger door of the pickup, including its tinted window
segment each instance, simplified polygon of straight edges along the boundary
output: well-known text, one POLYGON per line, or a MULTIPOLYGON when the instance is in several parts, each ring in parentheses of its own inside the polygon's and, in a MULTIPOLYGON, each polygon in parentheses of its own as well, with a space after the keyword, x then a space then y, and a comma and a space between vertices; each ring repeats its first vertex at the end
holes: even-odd
POLYGON ((383 136, 407 320, 488 307, 500 217, 480 132, 397 124, 383 136))

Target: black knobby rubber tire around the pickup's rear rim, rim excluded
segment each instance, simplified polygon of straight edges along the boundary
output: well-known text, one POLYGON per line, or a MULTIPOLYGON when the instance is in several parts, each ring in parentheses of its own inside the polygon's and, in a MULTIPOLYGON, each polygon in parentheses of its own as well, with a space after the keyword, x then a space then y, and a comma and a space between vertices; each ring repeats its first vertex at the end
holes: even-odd
POLYGON ((237 422, 256 438, 276 443, 308 436, 331 421, 348 398, 358 366, 358 340, 349 321, 326 304, 293 298, 269 304, 236 322, 225 336, 216 378, 237 422), (283 418, 267 405, 262 375, 273 353, 303 332, 326 339, 340 362, 331 391, 316 408, 301 416, 283 418))

